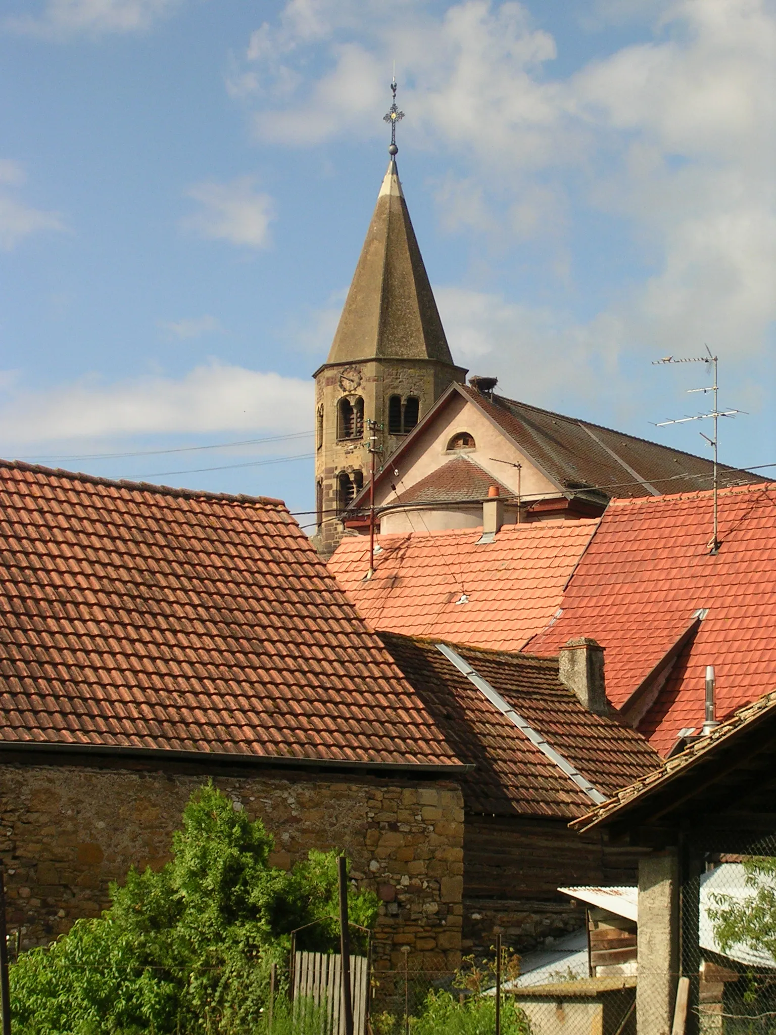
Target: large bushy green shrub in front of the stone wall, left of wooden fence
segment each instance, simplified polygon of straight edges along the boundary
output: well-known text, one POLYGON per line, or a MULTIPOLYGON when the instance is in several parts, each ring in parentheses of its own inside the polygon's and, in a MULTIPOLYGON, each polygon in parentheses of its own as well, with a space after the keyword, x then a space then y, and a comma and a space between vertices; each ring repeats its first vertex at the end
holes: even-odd
MULTIPOLYGON (((299 947, 338 947, 336 853, 291 873, 268 865, 272 837, 208 783, 192 795, 173 859, 130 869, 99 919, 79 920, 10 970, 14 1035, 239 1035, 262 1022, 269 971, 299 947)), ((349 889, 356 923, 377 916, 349 889)))

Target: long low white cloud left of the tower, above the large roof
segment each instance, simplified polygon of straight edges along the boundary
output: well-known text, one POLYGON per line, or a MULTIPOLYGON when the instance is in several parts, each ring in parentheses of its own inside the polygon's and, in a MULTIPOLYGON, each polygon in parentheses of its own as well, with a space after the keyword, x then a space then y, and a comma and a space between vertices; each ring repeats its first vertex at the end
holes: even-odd
POLYGON ((0 452, 34 443, 138 435, 306 431, 307 379, 212 362, 180 379, 150 376, 114 384, 82 379, 46 391, 10 381, 0 410, 0 452))

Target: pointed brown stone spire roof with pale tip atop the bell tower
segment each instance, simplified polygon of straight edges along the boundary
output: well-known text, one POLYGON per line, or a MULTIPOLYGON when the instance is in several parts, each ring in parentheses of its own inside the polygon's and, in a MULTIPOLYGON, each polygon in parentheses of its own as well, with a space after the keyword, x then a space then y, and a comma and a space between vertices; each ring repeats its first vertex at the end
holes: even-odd
POLYGON ((393 159, 327 363, 380 357, 453 365, 393 159))

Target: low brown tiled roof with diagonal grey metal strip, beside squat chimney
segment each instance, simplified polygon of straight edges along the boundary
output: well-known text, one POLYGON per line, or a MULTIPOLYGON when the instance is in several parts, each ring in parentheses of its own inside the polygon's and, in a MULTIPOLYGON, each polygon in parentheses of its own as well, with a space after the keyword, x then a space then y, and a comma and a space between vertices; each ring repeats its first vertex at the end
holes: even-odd
MULTIPOLYGON (((456 756, 467 808, 566 819, 590 798, 437 649, 438 641, 381 633, 456 756)), ((660 765, 617 718, 593 715, 558 679, 558 659, 451 645, 530 726, 607 797, 660 765)))

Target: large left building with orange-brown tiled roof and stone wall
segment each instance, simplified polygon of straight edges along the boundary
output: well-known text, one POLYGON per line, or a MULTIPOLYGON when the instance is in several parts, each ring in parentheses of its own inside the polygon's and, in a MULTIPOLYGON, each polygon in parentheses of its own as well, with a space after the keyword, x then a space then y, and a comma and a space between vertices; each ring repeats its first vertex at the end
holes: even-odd
POLYGON ((285 505, 2 463, 0 506, 0 852, 22 947, 161 865, 212 777, 275 835, 275 864, 345 849, 394 889, 383 966, 408 926, 416 963, 456 966, 465 766, 285 505), (409 845, 428 863, 402 884, 409 845))

